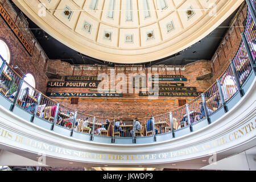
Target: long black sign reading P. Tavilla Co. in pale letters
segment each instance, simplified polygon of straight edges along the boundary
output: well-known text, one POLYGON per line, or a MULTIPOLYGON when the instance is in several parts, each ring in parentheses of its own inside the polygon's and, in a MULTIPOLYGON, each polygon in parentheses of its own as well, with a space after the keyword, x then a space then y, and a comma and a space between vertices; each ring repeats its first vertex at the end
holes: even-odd
POLYGON ((122 93, 65 93, 48 92, 49 97, 122 97, 122 93))

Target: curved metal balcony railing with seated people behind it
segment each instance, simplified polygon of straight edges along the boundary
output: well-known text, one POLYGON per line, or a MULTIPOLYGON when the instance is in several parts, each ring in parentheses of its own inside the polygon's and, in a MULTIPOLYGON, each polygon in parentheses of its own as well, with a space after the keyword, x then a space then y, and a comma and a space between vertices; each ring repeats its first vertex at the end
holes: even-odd
POLYGON ((31 122, 35 117, 42 118, 52 123, 52 130, 54 127, 71 130, 71 137, 74 132, 88 134, 91 140, 96 135, 110 137, 112 142, 118 137, 131 137, 135 143, 137 137, 154 136, 155 138, 157 135, 168 133, 172 133, 172 137, 175 137, 175 131, 187 127, 192 132, 192 125, 201 122, 202 119, 206 118, 210 124, 210 115, 218 109, 223 107, 226 112, 226 102, 237 92, 240 92, 242 97, 244 94, 242 85, 251 71, 255 74, 256 27, 253 18, 255 1, 246 1, 253 3, 253 6, 250 5, 247 10, 242 41, 236 55, 230 60, 229 67, 200 97, 170 113, 121 121, 120 118, 94 117, 69 109, 32 88, 1 55, 0 93, 12 102, 11 111, 15 107, 20 107, 32 113, 31 122))

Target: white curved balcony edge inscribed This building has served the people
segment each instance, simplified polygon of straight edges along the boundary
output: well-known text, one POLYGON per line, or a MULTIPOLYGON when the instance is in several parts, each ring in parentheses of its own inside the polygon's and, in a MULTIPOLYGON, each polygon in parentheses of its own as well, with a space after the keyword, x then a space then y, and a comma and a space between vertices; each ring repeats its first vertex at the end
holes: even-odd
MULTIPOLYGON (((145 144, 96 143, 67 137, 54 130, 42 129, 0 106, 1 149, 17 154, 23 154, 25 151, 26 155, 31 156, 44 154, 47 158, 55 160, 122 165, 167 164, 197 159, 213 153, 230 154, 230 150, 246 150, 251 144, 255 145, 255 90, 254 76, 245 95, 236 101, 236 105, 228 113, 210 125, 177 138, 145 144)), ((236 99, 236 94, 232 99, 236 99)))

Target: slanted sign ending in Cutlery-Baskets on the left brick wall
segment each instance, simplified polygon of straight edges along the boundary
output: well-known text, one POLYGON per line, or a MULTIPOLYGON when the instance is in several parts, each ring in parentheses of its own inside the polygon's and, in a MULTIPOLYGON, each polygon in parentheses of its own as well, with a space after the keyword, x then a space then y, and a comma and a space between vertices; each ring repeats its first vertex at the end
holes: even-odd
POLYGON ((27 50, 27 52, 32 56, 33 49, 31 48, 30 44, 28 44, 27 40, 24 38, 22 33, 19 31, 19 28, 15 25, 9 14, 4 9, 3 5, 0 3, 0 14, 5 20, 5 22, 8 24, 8 26, 11 28, 11 30, 14 32, 16 37, 19 39, 19 42, 22 43, 22 46, 27 50))

